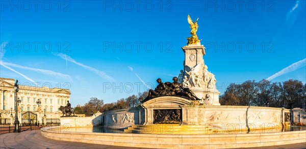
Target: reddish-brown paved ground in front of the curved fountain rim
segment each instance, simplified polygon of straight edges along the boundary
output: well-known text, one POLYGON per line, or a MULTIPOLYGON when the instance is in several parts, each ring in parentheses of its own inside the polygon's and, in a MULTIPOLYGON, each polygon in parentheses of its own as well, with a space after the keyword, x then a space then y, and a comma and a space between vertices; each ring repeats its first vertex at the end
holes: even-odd
MULTIPOLYGON (((112 145, 89 144, 69 141, 57 141, 47 139, 41 136, 40 130, 24 131, 21 133, 6 133, 0 135, 0 148, 136 148, 136 147, 121 147, 112 145)), ((306 142, 275 145, 252 148, 306 148, 306 142)))

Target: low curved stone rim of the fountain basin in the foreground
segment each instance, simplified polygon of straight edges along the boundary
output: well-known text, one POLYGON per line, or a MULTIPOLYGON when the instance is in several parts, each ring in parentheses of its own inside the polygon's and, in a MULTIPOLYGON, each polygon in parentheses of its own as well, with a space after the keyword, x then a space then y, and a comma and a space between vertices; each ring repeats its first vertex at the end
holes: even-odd
POLYGON ((50 131, 54 128, 42 128, 41 135, 61 141, 145 148, 244 148, 306 142, 305 130, 248 134, 175 135, 50 131))

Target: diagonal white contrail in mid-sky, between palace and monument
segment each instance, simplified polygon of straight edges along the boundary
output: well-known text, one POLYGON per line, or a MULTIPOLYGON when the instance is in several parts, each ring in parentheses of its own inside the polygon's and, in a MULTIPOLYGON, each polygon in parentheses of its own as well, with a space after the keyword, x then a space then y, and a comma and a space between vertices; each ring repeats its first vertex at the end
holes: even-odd
POLYGON ((90 71, 96 73, 97 75, 99 75, 100 77, 103 77, 104 79, 106 79, 106 80, 108 80, 108 81, 115 82, 115 79, 114 79, 114 78, 112 78, 111 76, 107 75, 107 74, 106 74, 105 72, 103 72, 103 71, 100 71, 100 70, 97 70, 97 69, 92 68, 92 67, 90 67, 90 66, 81 64, 81 63, 75 61, 74 59, 72 59, 70 56, 68 56, 68 55, 66 55, 66 54, 58 53, 57 55, 60 56, 60 57, 63 58, 63 59, 66 59, 66 61, 69 61, 69 62, 72 62, 72 63, 74 63, 74 64, 77 64, 77 65, 79 65, 79 66, 81 66, 81 67, 83 67, 83 68, 85 68, 85 69, 87 69, 87 70, 90 70, 90 71))

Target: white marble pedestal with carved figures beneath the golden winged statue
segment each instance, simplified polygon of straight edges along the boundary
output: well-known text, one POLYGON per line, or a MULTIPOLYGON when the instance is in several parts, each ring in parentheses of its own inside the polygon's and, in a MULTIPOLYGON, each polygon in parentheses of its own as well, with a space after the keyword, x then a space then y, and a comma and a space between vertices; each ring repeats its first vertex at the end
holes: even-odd
POLYGON ((185 53, 183 76, 188 77, 190 90, 204 100, 202 103, 220 105, 220 92, 216 89, 215 75, 208 71, 204 63, 205 47, 199 43, 184 46, 182 49, 185 53))

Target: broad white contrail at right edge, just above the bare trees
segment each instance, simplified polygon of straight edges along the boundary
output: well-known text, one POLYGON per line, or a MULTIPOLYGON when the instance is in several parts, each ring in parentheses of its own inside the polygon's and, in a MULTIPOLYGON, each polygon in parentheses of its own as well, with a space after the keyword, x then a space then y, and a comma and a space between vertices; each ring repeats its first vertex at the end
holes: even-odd
POLYGON ((278 76, 281 76, 281 75, 284 75, 286 73, 289 73, 289 72, 292 72, 292 71, 295 71, 301 67, 304 67, 306 65, 306 58, 302 59, 301 61, 298 61, 296 63, 293 63, 291 64, 290 66, 284 68, 283 70, 273 74, 272 76, 268 77, 266 80, 272 80, 278 76))

